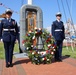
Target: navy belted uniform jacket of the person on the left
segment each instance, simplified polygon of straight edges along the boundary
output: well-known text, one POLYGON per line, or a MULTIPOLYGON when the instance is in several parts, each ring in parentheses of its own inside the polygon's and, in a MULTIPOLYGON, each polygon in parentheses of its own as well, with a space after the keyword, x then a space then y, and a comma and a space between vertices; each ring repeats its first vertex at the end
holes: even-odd
POLYGON ((18 26, 14 19, 3 19, 1 21, 0 37, 2 36, 4 42, 15 41, 18 31, 18 26), (5 29, 8 29, 8 31, 5 31, 5 29), (10 31, 10 29, 14 30, 10 31))

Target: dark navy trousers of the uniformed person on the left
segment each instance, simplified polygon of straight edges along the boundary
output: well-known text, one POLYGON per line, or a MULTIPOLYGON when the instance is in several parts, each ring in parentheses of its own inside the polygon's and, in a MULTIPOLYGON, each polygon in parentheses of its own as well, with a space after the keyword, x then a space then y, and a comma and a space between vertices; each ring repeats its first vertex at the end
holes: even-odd
POLYGON ((4 49, 5 49, 5 59, 6 64, 10 63, 12 64, 13 59, 13 49, 14 49, 14 41, 11 42, 3 42, 4 43, 4 49))

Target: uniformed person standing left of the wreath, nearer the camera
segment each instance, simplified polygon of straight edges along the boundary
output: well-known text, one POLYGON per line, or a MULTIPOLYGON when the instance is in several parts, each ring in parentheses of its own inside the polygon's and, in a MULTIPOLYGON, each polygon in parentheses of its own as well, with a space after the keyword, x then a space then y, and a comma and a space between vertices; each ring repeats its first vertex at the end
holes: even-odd
POLYGON ((17 22, 11 18, 12 10, 7 9, 5 11, 6 18, 1 21, 0 27, 0 37, 3 38, 4 49, 5 49, 5 59, 6 67, 13 67, 13 49, 16 40, 16 35, 18 34, 17 22))

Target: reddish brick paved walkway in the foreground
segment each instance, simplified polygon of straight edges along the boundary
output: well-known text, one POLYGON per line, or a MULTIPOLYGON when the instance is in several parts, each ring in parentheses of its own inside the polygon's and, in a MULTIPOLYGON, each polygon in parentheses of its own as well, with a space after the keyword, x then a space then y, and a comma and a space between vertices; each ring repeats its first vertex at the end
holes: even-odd
POLYGON ((0 60, 0 75, 76 75, 76 59, 63 57, 63 62, 33 65, 28 58, 14 59, 12 68, 0 60))

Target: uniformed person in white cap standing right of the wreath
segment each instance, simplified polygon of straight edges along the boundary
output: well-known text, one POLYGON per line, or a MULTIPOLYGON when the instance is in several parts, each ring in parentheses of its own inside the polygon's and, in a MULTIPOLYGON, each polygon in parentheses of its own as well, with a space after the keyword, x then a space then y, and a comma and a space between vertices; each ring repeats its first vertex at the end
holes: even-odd
POLYGON ((63 22, 61 21, 62 14, 58 12, 56 14, 57 20, 52 24, 52 35, 55 38, 57 50, 55 52, 55 61, 62 61, 62 44, 63 40, 65 39, 65 29, 63 22))

